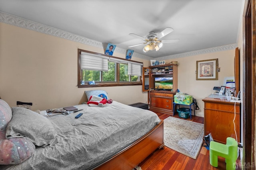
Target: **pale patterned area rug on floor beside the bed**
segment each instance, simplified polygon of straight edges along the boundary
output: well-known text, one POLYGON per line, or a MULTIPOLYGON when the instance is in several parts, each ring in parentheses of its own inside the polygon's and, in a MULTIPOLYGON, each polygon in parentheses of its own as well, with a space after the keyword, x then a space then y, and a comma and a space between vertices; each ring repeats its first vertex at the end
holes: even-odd
POLYGON ((196 159, 203 142, 204 124, 176 117, 164 119, 164 145, 196 159))

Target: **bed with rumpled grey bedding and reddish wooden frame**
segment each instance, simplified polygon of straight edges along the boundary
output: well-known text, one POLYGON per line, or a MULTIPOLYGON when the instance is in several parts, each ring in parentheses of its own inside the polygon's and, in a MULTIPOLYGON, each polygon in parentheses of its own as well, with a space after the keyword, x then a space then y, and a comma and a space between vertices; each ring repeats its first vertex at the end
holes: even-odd
MULTIPOLYGON (((104 107, 87 104, 74 107, 83 110, 52 117, 45 117, 46 111, 38 114, 22 107, 12 107, 12 119, 6 124, 8 139, 5 140, 29 137, 35 147, 33 153, 26 152, 30 154, 27 160, 0 165, 0 169, 131 170, 154 150, 164 147, 163 121, 152 111, 116 101, 104 107), (78 113, 83 115, 75 119, 78 113), (44 121, 49 124, 45 126, 44 121), (29 134, 20 135, 22 133, 29 134)), ((32 150, 33 146, 30 148, 32 150)))

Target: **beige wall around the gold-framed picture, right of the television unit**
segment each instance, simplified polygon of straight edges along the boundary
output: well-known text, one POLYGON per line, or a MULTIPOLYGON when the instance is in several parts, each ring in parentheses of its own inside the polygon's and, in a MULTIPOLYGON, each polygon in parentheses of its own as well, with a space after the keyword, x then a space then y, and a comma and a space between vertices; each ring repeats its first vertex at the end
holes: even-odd
POLYGON ((197 99, 200 108, 196 110, 197 116, 204 117, 204 102, 202 99, 214 92, 213 87, 223 86, 224 77, 234 76, 234 55, 235 50, 229 50, 166 61, 166 63, 178 61, 178 89, 180 92, 190 94, 197 99), (220 67, 218 80, 196 80, 196 61, 208 59, 218 59, 220 67))

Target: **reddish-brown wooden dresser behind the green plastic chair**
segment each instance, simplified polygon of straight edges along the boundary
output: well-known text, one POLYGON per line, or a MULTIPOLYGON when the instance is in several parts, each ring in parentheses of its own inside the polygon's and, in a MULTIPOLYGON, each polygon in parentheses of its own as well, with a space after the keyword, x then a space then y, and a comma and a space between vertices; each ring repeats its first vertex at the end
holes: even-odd
POLYGON ((240 142, 240 103, 235 105, 226 99, 209 97, 203 101, 204 135, 211 133, 213 140, 220 143, 226 143, 227 137, 236 139, 237 136, 237 141, 240 142))

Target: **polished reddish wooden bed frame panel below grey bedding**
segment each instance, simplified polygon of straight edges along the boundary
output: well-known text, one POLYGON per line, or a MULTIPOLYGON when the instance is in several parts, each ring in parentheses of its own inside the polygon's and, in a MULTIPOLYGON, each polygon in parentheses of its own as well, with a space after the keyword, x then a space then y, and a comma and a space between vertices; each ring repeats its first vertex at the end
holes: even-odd
POLYGON ((154 150, 164 148, 164 121, 146 135, 120 151, 109 160, 94 167, 96 170, 132 170, 154 150))

